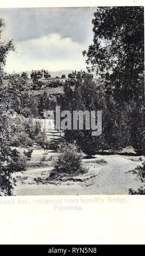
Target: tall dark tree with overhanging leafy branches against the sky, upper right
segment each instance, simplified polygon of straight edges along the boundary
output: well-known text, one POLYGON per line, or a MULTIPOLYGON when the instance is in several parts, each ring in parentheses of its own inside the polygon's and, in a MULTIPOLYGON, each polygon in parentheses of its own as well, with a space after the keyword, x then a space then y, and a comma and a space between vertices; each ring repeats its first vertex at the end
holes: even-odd
POLYGON ((118 100, 139 100, 144 84, 143 7, 100 7, 94 13, 88 70, 107 75, 118 100))

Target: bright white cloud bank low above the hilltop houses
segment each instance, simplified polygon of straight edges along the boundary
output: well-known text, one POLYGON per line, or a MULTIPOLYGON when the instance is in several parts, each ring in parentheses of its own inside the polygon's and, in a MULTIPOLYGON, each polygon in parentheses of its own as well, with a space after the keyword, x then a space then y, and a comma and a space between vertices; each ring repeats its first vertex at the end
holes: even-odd
POLYGON ((32 69, 85 69, 85 58, 82 51, 88 46, 62 38, 60 34, 52 33, 37 39, 18 41, 15 43, 17 52, 10 52, 6 60, 5 71, 20 72, 32 69))

